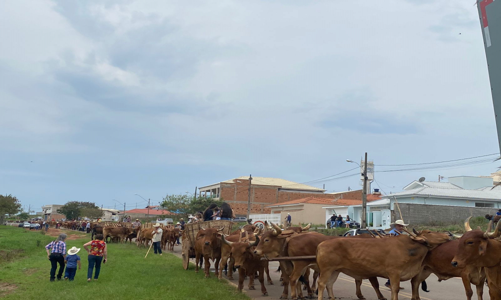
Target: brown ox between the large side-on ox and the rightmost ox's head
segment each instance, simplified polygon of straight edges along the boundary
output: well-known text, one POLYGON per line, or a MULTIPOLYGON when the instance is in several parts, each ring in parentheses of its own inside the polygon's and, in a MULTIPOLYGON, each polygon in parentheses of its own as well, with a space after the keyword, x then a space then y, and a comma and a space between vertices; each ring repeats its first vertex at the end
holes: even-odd
POLYGON ((482 300, 483 284, 485 283, 485 272, 483 268, 467 265, 465 267, 453 267, 452 258, 457 253, 458 240, 445 242, 426 254, 423 261, 423 268, 419 275, 411 279, 412 300, 420 300, 419 282, 426 280, 433 273, 438 277, 438 281, 447 280, 452 277, 461 277, 466 292, 466 298, 471 300, 473 290, 471 283, 476 286, 478 300, 482 300))

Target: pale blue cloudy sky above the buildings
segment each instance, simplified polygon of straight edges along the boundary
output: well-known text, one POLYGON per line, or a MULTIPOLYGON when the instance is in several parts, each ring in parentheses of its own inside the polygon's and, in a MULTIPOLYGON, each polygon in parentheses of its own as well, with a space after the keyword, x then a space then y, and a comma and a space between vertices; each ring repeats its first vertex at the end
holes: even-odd
POLYGON ((248 174, 323 178, 365 151, 376 171, 497 153, 473 2, 3 1, 0 192, 133 208, 248 174))

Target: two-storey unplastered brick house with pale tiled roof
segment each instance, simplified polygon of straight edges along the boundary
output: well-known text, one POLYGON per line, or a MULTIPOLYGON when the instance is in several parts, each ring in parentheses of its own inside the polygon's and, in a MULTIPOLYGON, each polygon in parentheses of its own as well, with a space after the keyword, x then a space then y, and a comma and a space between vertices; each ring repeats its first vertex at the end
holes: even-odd
MULTIPOLYGON (((247 213, 248 176, 241 176, 198 188, 199 196, 225 201, 236 215, 247 213)), ((267 205, 306 197, 361 199, 361 190, 325 193, 325 189, 281 178, 254 177, 250 184, 250 213, 270 213, 267 205)))

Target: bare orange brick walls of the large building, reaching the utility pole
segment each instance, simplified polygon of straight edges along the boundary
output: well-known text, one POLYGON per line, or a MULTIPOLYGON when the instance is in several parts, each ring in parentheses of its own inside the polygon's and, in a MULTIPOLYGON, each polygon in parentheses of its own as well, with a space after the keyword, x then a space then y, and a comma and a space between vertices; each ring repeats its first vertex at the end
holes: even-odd
MULTIPOLYGON (((221 183, 219 200, 225 201, 231 205, 237 216, 247 214, 248 202, 248 180, 238 179, 241 182, 221 183)), ((361 199, 360 190, 349 191, 343 194, 324 194, 315 192, 290 192, 279 190, 278 186, 254 185, 250 187, 250 213, 271 213, 269 204, 280 203, 290 200, 297 200, 306 197, 319 197, 328 199, 361 199)), ((323 215, 324 211, 320 215, 323 215)), ((318 217, 318 216, 317 216, 318 217)))

